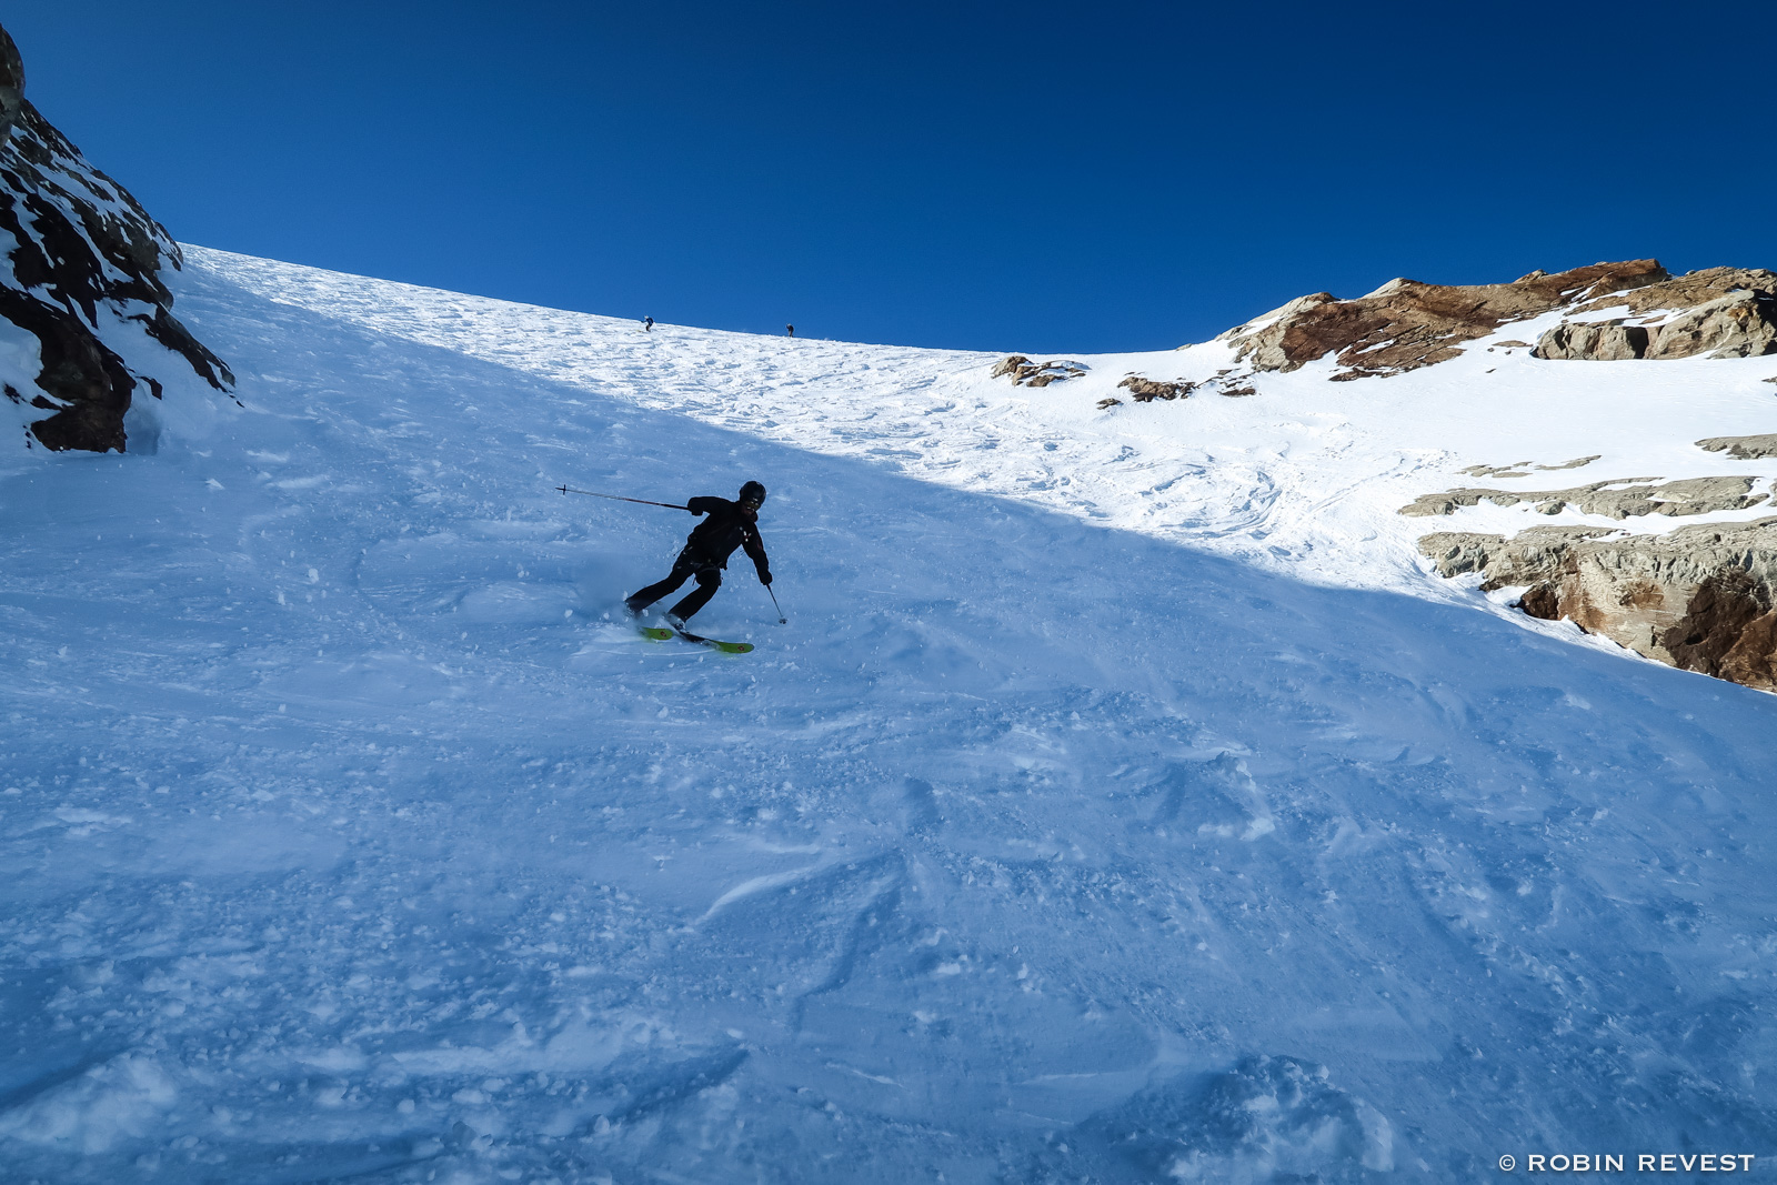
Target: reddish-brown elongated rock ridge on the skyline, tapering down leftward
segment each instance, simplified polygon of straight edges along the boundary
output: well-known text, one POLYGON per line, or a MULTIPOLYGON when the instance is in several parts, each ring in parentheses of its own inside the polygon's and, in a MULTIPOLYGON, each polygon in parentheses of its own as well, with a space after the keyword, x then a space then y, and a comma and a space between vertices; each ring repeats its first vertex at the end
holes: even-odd
POLYGON ((1256 371, 1290 371, 1327 354, 1333 378, 1398 375, 1461 354, 1464 341, 1500 325, 1578 306, 1605 293, 1669 279, 1656 259, 1594 263, 1571 272, 1532 272, 1510 284, 1422 284, 1395 279, 1367 297, 1297 297, 1281 309, 1221 334, 1235 359, 1256 371))

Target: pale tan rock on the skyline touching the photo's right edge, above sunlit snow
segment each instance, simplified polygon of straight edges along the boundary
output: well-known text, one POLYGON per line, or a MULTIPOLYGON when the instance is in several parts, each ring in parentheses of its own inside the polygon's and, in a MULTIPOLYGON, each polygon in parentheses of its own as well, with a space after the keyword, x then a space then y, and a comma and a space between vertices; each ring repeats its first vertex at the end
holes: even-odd
POLYGON ((1615 309, 1626 309, 1626 316, 1562 322, 1542 334, 1532 354, 1599 362, 1777 354, 1777 274, 1763 268, 1688 272, 1589 300, 1574 314, 1615 309))

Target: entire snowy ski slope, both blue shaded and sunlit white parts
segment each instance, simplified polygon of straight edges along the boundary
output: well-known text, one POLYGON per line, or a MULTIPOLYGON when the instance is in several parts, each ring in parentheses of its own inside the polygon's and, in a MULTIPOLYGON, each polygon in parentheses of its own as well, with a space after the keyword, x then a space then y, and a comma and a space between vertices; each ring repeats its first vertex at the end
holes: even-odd
POLYGON ((1226 348, 1027 389, 188 258, 245 407, 0 460, 7 1181, 1772 1178, 1777 698, 1413 549, 1573 512, 1395 513, 1768 492, 1692 441, 1770 359, 1137 405, 1226 348), (620 611, 689 515, 553 489, 748 478, 745 657, 620 611))

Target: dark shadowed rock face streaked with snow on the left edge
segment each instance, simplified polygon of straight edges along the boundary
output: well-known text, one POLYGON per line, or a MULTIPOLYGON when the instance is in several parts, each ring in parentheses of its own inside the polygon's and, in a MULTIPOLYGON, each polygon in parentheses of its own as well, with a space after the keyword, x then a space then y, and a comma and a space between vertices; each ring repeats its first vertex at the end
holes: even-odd
POLYGON ((0 233, 12 243, 0 318, 37 343, 36 373, 0 364, 5 394, 52 412, 28 428, 44 448, 123 451, 124 412, 139 384, 160 398, 153 373, 174 364, 169 352, 219 391, 235 377, 172 316, 160 270, 179 266, 178 243, 23 91, 18 48, 0 28, 0 233))

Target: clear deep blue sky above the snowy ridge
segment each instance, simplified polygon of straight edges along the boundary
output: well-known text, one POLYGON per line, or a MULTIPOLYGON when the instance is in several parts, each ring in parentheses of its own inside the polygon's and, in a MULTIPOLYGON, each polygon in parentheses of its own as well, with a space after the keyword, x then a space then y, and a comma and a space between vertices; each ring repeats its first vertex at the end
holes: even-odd
POLYGON ((1777 5, 18 0, 183 242, 661 322, 1095 352, 1304 291, 1777 266, 1777 5))

